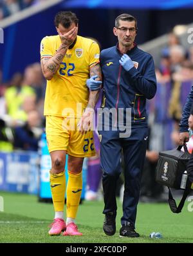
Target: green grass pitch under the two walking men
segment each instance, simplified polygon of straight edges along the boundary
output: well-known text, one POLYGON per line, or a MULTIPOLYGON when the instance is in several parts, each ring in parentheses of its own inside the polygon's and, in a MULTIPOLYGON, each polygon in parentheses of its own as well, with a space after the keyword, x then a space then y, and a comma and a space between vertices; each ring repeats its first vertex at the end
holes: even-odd
POLYGON ((77 224, 82 237, 50 237, 48 225, 53 219, 52 204, 38 202, 33 195, 5 193, 4 211, 0 212, 0 242, 50 242, 50 243, 169 243, 193 242, 193 211, 186 202, 182 213, 174 214, 168 204, 138 204, 136 231, 140 238, 119 237, 122 205, 118 202, 116 234, 108 237, 102 230, 103 202, 86 202, 78 209, 77 224), (152 231, 160 232, 162 239, 150 239, 152 231))

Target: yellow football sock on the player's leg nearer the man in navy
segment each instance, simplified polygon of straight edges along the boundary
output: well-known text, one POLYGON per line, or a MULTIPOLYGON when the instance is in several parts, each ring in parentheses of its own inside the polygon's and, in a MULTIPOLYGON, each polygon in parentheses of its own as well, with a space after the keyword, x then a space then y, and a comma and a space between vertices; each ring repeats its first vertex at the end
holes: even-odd
POLYGON ((66 217, 76 218, 80 197, 82 193, 82 172, 70 173, 68 171, 68 185, 66 189, 66 217))

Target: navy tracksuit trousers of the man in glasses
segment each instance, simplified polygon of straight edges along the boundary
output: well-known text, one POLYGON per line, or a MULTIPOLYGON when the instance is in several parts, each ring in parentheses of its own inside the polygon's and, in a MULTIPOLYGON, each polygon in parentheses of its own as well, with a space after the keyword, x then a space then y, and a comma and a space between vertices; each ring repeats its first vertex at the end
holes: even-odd
POLYGON ((120 175, 120 156, 124 153, 125 190, 121 224, 135 224, 140 196, 140 180, 147 149, 147 127, 131 129, 131 136, 120 138, 119 131, 100 131, 100 158, 103 170, 104 211, 116 211, 116 182, 120 175))

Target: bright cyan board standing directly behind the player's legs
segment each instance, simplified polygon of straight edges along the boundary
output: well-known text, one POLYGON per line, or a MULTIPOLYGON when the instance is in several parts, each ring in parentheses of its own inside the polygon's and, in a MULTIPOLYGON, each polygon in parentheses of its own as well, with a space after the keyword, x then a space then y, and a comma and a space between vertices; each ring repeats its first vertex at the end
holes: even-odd
MULTIPOLYGON (((43 133, 41 136, 41 168, 40 168, 40 186, 39 186, 39 197, 41 199, 51 198, 50 189, 50 169, 51 169, 51 158, 48 152, 48 146, 46 142, 46 134, 43 133)), ((66 155, 66 184, 68 182, 68 155, 66 155)), ((81 198, 84 199, 86 192, 86 179, 87 179, 87 158, 84 158, 82 167, 82 194, 81 198)))

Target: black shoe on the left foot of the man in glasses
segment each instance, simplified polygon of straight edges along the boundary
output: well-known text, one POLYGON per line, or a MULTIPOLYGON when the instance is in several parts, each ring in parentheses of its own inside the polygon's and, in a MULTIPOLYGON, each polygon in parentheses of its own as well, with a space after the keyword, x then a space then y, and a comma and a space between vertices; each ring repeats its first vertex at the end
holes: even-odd
POLYGON ((114 235, 116 232, 116 213, 106 213, 104 219, 103 230, 106 235, 114 235))

